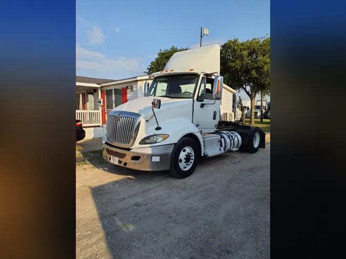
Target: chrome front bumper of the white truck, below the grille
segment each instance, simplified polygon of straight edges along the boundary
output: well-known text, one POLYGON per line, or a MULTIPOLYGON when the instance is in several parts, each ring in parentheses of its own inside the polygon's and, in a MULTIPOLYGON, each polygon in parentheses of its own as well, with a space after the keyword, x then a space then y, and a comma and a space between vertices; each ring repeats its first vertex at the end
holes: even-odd
MULTIPOLYGON (((173 149, 173 148, 172 148, 173 149)), ((165 150, 171 150, 166 148, 165 150)), ((172 153, 139 153, 109 145, 103 146, 103 157, 111 162, 111 157, 118 158, 116 165, 143 171, 161 171, 170 168, 172 153)))

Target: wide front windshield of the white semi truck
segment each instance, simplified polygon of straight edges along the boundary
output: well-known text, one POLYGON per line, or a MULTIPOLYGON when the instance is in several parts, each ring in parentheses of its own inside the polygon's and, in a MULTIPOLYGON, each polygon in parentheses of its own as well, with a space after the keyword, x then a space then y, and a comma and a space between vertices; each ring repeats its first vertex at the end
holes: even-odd
POLYGON ((198 75, 177 74, 155 77, 145 96, 192 98, 198 75))

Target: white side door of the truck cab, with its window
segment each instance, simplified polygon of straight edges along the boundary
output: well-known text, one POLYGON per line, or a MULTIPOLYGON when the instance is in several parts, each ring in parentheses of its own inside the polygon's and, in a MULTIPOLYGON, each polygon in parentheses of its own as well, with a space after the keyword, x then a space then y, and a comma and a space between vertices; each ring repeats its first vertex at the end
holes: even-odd
POLYGON ((193 105, 193 124, 201 133, 214 132, 220 119, 220 100, 213 100, 213 78, 203 76, 193 105))

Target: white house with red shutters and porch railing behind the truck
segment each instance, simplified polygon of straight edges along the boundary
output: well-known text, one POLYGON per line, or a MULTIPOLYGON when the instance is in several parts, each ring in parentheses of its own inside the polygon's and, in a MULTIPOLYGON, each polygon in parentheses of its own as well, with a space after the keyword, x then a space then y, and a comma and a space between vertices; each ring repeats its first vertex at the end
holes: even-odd
MULTIPOLYGON (((143 97, 144 83, 153 81, 149 76, 135 76, 114 80, 76 76, 76 119, 82 120, 86 139, 101 138, 106 133, 106 110, 110 112, 118 105, 143 97), (103 109, 98 104, 103 99, 103 109)), ((221 118, 232 120, 233 94, 236 91, 223 84, 220 105, 221 118)))

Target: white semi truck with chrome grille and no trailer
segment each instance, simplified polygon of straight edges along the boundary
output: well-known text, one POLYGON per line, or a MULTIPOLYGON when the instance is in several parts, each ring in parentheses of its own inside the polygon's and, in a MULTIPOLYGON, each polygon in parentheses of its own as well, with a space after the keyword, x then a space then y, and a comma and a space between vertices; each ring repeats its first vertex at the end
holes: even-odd
POLYGON ((144 97, 108 114, 104 159, 137 170, 169 170, 181 179, 203 157, 264 148, 260 128, 221 120, 219 71, 219 45, 175 53, 151 75, 144 97))

